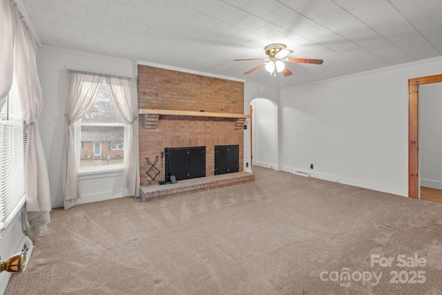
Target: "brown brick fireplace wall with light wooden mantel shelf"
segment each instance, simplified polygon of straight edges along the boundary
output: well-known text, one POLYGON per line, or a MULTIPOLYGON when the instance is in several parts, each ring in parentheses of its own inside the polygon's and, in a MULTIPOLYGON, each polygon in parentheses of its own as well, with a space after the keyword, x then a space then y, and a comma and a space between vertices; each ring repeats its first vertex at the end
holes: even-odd
MULTIPOLYGON (((238 171, 244 173, 243 126, 248 115, 244 115, 242 82, 139 65, 138 106, 141 187, 164 180, 165 148, 205 146, 205 175, 211 177, 215 146, 238 145, 238 171), (151 166, 146 158, 151 164, 158 159, 155 167, 160 173, 155 180, 151 178, 155 175, 146 175, 151 166)), ((253 181, 254 175, 247 174, 244 182, 253 181)))

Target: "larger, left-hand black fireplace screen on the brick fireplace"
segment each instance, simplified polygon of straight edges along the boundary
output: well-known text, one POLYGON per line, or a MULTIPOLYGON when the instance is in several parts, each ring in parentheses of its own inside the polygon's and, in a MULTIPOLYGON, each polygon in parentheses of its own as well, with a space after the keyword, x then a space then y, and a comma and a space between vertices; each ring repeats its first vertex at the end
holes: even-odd
POLYGON ((206 176, 206 146, 166 148, 164 155, 166 182, 170 182, 171 175, 176 180, 206 176))

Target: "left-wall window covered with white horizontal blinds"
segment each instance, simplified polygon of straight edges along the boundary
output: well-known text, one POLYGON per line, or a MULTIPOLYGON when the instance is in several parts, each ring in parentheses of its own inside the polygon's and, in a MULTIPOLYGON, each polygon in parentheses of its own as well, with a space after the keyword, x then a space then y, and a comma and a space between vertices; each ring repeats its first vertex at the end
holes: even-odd
POLYGON ((8 226, 26 201, 25 160, 26 125, 14 77, 0 110, 0 230, 8 226))

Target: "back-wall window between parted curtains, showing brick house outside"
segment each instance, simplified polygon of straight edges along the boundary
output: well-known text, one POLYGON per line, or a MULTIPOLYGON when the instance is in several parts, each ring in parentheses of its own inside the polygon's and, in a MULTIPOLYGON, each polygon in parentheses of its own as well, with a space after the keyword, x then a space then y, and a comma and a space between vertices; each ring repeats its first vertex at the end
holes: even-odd
POLYGON ((93 105, 73 128, 80 173, 124 169, 128 126, 119 117, 105 83, 93 105))

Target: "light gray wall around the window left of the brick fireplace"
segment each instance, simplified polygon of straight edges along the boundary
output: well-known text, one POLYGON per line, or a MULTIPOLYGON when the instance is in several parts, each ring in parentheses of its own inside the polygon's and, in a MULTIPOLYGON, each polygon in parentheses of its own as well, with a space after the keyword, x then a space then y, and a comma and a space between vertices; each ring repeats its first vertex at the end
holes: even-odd
MULTIPOLYGON (((62 168, 65 149, 67 77, 66 68, 108 75, 135 77, 131 61, 89 55, 72 50, 44 46, 39 50, 39 78, 43 91, 43 112, 38 118, 41 141, 48 164, 52 208, 63 207, 62 168)), ((123 173, 81 176, 82 202, 127 196, 123 173)))

